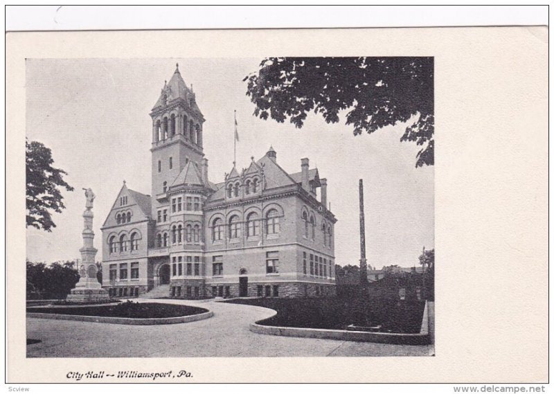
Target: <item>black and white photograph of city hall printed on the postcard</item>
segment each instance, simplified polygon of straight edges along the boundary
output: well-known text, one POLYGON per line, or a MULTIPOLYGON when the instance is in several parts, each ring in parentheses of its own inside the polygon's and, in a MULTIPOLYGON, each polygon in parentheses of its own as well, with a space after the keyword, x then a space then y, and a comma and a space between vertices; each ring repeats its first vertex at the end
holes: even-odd
POLYGON ((28 59, 27 357, 434 355, 433 57, 28 59))

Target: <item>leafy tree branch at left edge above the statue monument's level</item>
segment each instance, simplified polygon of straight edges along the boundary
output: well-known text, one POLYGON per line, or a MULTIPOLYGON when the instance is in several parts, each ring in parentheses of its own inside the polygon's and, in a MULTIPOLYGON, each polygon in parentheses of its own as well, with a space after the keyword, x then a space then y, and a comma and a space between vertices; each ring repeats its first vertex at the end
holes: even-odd
POLYGON ((51 150, 37 141, 25 141, 26 148, 26 226, 44 231, 52 231, 56 225, 50 211, 61 213, 65 208, 59 188, 73 191, 64 181, 67 174, 60 168, 52 167, 51 150))

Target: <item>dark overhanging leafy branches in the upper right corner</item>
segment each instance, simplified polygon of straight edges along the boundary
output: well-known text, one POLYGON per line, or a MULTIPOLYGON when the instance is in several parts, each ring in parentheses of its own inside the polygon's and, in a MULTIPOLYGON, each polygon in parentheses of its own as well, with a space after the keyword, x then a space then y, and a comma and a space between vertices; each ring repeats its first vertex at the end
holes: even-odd
POLYGON ((400 141, 421 145, 415 167, 434 164, 433 57, 269 57, 244 78, 254 115, 301 128, 310 111, 354 135, 406 123, 400 141))

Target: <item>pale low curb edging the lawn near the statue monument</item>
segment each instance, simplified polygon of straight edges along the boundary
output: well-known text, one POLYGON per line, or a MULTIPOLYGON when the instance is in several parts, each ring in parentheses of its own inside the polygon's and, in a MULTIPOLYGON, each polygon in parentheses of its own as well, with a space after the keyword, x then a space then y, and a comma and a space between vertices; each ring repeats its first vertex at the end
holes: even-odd
POLYGON ((208 319, 212 316, 213 316, 212 311, 199 313, 199 314, 191 314, 189 316, 163 317, 163 318, 157 318, 157 319, 132 319, 129 317, 84 316, 84 315, 78 315, 78 314, 27 312, 27 317, 32 317, 35 319, 74 320, 74 321, 89 321, 93 323, 111 323, 111 324, 129 324, 129 325, 190 323, 191 321, 208 319))

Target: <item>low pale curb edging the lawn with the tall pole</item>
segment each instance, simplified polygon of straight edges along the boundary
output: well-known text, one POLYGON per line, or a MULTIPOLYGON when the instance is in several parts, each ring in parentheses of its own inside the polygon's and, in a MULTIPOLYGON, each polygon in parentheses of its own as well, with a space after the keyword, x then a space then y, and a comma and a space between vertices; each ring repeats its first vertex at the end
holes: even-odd
MULTIPOLYGON (((277 312, 275 312, 273 316, 276 314, 277 312)), ((274 327, 271 325, 261 325, 259 323, 260 321, 251 323, 250 331, 256 332, 257 334, 280 335, 282 337, 337 339, 339 341, 397 343, 404 345, 427 345, 430 343, 429 312, 427 309, 427 302, 425 303, 425 310, 423 310, 421 329, 418 334, 325 330, 323 328, 274 327)))

